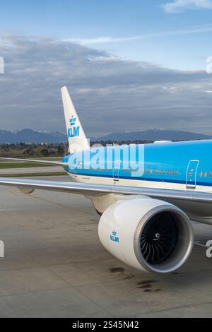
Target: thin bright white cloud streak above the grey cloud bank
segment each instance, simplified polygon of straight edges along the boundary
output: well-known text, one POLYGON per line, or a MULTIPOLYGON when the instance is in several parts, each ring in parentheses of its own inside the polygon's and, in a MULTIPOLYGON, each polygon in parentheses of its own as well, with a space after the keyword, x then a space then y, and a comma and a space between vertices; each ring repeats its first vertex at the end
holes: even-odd
POLYGON ((136 40, 143 40, 148 38, 158 38, 158 37, 170 37, 177 35, 193 35, 196 33, 205 33, 211 32, 212 25, 198 25, 192 28, 184 29, 184 30, 172 30, 172 31, 161 31, 155 33, 146 33, 143 35, 137 35, 132 37, 94 37, 94 38, 67 38, 65 40, 61 40, 59 42, 67 42, 71 44, 78 44, 83 46, 92 46, 98 44, 110 44, 110 43, 120 43, 120 42, 133 42, 136 40))

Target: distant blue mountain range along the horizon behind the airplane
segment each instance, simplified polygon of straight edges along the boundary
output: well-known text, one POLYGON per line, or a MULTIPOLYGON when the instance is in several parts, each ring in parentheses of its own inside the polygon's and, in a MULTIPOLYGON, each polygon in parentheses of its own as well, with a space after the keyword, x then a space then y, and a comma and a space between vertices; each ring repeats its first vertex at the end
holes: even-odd
MULTIPOLYGON (((212 136, 195 134, 188 131, 175 131, 165 129, 147 129, 143 131, 122 131, 98 138, 90 138, 90 141, 192 141, 212 139, 212 136)), ((0 130, 0 143, 61 143, 66 142, 66 134, 59 131, 33 131, 23 129, 20 131, 0 130)))

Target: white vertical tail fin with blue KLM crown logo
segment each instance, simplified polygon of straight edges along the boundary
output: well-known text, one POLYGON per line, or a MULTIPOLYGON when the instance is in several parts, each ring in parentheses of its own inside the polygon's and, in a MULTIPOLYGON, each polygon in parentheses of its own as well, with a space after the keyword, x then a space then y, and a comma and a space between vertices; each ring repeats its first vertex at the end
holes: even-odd
POLYGON ((61 88, 61 95, 64 104, 64 114, 66 119, 66 129, 69 141, 70 153, 76 153, 90 148, 86 135, 78 119, 78 115, 71 101, 69 92, 64 86, 61 88))

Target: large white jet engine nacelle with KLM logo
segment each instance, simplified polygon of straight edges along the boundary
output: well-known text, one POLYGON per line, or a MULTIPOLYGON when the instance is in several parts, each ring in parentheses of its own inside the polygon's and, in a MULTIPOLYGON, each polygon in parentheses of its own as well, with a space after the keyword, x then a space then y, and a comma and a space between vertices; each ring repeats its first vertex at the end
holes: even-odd
POLYGON ((145 196, 112 204, 102 214, 98 232, 117 259, 153 273, 177 270, 194 244, 192 224, 183 211, 145 196))

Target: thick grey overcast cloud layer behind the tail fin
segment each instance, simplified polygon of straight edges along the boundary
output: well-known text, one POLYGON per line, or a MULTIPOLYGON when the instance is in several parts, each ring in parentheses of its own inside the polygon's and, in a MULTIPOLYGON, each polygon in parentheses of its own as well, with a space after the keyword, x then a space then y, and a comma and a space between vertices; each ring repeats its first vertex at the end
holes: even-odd
POLYGON ((60 88, 67 85, 88 136, 148 128, 212 134, 212 75, 204 71, 24 36, 7 36, 2 55, 0 129, 64 132, 60 88))

